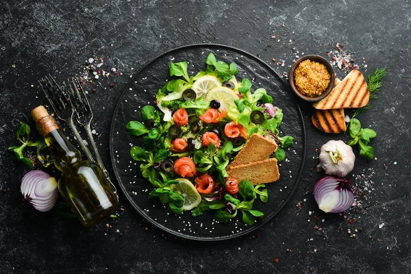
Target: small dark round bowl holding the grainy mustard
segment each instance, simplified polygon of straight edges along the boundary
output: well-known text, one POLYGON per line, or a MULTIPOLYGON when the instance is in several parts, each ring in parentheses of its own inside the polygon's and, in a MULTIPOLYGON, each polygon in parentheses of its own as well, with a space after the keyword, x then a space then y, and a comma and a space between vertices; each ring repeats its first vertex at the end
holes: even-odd
POLYGON ((332 69, 332 65, 322 56, 320 55, 306 55, 301 58, 299 58, 295 63, 292 65, 291 70, 290 70, 290 84, 291 84, 291 90, 303 101, 307 101, 309 103, 314 103, 316 101, 320 101, 321 99, 327 97, 329 95, 329 92, 332 90, 332 86, 334 85, 334 71, 332 69), (320 64, 324 64, 325 68, 327 69, 330 78, 329 78, 329 84, 327 88, 324 90, 322 95, 316 96, 316 97, 308 97, 306 95, 303 95, 301 92, 299 92, 297 86, 295 86, 295 81, 294 81, 294 74, 295 74, 295 69, 297 69, 297 66, 303 62, 304 60, 311 60, 314 62, 319 62, 320 64))

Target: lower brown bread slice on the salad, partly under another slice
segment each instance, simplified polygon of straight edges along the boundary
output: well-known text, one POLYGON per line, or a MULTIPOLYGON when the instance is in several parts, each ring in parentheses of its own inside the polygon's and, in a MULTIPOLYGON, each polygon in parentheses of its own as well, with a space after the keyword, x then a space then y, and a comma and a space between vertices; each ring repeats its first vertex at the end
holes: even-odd
POLYGON ((254 186, 267 184, 279 179, 277 159, 270 158, 251 164, 239 164, 227 171, 230 178, 241 182, 243 179, 251 182, 254 186))

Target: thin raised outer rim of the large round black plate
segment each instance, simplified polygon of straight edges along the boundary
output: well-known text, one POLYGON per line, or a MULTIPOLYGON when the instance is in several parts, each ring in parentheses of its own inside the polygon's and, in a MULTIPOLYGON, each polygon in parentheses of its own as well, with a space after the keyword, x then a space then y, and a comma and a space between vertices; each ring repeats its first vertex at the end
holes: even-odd
POLYGON ((305 126, 304 121, 303 121, 303 115, 301 113, 301 109, 299 107, 299 104, 298 104, 297 100, 295 99, 295 96, 293 96, 292 93, 290 92, 290 86, 286 82, 284 82, 282 77, 277 73, 277 71, 275 71, 273 68, 271 68, 271 66, 269 66, 269 64, 266 64, 266 62, 264 62, 260 58, 256 57, 252 53, 249 53, 249 52, 244 51, 242 49, 238 49, 236 47, 221 45, 221 44, 214 44, 214 43, 210 43, 210 44, 208 44, 208 43, 199 43, 199 44, 184 45, 182 47, 176 47, 176 48, 170 49, 169 51, 166 51, 166 52, 158 55, 157 57, 155 57, 152 60, 150 60, 149 62, 147 62, 147 64, 142 66, 142 69, 140 69, 134 75, 134 77, 132 77, 132 79, 129 80, 129 83, 125 86, 125 89, 123 90, 123 92, 121 92, 121 96, 119 98, 119 101, 117 101, 117 103, 116 103, 116 108, 114 108, 114 112, 112 114, 112 122, 110 124, 110 140, 109 140, 109 142, 110 142, 110 144, 109 144, 110 160, 111 160, 111 163, 112 163, 112 168, 113 168, 114 174, 116 176, 117 183, 119 184, 121 190, 123 191, 124 196, 127 198, 127 201, 132 205, 134 210, 136 210, 138 212, 138 214, 140 214, 140 216, 142 216, 142 218, 144 218, 146 221, 148 221, 149 223, 151 223, 155 227, 158 227, 158 228, 162 229, 164 232, 168 232, 169 234, 172 234, 174 236, 179 236, 181 238, 186 238, 186 239, 189 239, 189 240, 203 241, 203 242, 212 242, 212 241, 217 241, 217 240, 228 240, 228 239, 232 239, 232 238, 237 238, 237 237, 243 236, 245 234, 249 234, 250 232, 253 232, 254 230, 256 230, 258 227, 261 227, 262 225, 265 225, 266 223, 271 221, 274 218, 274 216, 277 215, 278 212, 280 212, 284 208, 284 206, 286 206, 286 203, 288 203, 288 201, 290 200, 290 198, 294 194, 295 189, 299 185, 299 180, 301 178, 301 173, 303 171, 303 166, 304 166, 305 161, 306 161, 306 126, 305 126), (260 64, 264 64, 264 66, 266 66, 266 68, 268 68, 269 71, 271 71, 277 77, 277 79, 279 79, 282 82, 284 88, 286 88, 286 92, 288 92, 290 94, 290 96, 292 97, 292 101, 294 101, 295 105, 297 106, 297 112, 299 114, 299 119, 301 120, 302 129, 303 129, 303 146, 304 146, 303 159, 302 159, 302 162, 301 162, 301 167, 299 169, 299 174, 297 176, 297 184, 295 184, 292 187, 292 192, 290 193, 288 198, 284 200, 284 202, 281 204, 281 206, 279 206, 278 210, 276 210, 275 212, 271 212, 271 214, 269 214, 269 216, 264 221, 256 223, 255 225, 250 227, 250 229, 243 230, 243 231, 238 232, 236 234, 230 234, 230 235, 227 235, 227 236, 217 236, 217 237, 210 237, 210 238, 190 236, 190 235, 187 235, 187 234, 183 234, 181 232, 175 232, 173 229, 169 229, 168 227, 166 227, 164 225, 161 225, 160 223, 154 221, 153 219, 151 219, 149 214, 147 214, 147 212, 145 212, 144 210, 139 208, 136 205, 136 203, 134 203, 131 195, 129 195, 127 193, 127 190, 125 189, 123 184, 119 183, 120 182, 119 173, 116 171, 116 169, 114 169, 115 157, 114 157, 114 148, 113 148, 113 142, 112 142, 113 138, 112 138, 112 136, 114 136, 114 123, 115 123, 115 117, 116 117, 115 114, 118 112, 118 110, 120 108, 120 102, 123 101, 123 97, 128 92, 129 87, 134 83, 136 77, 138 77, 138 75, 140 75, 140 73, 142 73, 142 71, 144 71, 147 68, 147 66, 149 66, 151 63, 155 62, 155 60, 158 60, 158 59, 162 58, 164 55, 168 55, 170 53, 173 53, 173 51, 180 51, 182 49, 190 49, 190 48, 193 48, 193 47, 221 47, 221 48, 231 50, 231 51, 238 51, 242 55, 247 55, 248 58, 254 59, 257 62, 259 62, 260 64))

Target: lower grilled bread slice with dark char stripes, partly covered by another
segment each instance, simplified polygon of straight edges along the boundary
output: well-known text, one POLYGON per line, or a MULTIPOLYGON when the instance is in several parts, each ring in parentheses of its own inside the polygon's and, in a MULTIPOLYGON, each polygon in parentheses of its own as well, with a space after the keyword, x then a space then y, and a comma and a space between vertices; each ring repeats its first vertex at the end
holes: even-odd
MULTIPOLYGON (((338 86, 341 80, 336 78, 334 84, 338 86)), ((327 133, 345 132, 345 114, 343 108, 337 110, 314 110, 311 121, 316 128, 327 133)))

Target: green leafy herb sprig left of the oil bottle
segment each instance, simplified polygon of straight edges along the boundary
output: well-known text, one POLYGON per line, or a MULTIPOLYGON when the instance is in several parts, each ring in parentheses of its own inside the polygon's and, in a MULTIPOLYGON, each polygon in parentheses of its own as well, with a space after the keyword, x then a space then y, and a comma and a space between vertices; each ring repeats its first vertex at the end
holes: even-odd
POLYGON ((36 142, 33 142, 30 139, 30 127, 25 123, 22 123, 20 127, 18 127, 16 136, 17 140, 19 140, 22 145, 9 147, 8 150, 13 151, 16 158, 23 162, 27 168, 33 169, 32 161, 23 156, 23 151, 26 147, 38 147, 39 145, 43 145, 45 144, 45 140, 43 138, 38 138, 36 142))

